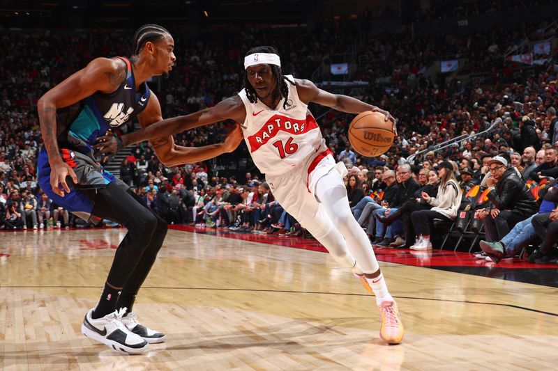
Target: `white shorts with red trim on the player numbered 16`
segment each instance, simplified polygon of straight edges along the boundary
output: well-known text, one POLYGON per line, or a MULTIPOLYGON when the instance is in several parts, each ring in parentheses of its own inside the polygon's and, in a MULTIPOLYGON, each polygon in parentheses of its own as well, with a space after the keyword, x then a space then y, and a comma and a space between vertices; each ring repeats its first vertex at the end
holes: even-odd
POLYGON ((338 178, 338 184, 328 186, 345 188, 343 177, 347 175, 347 168, 342 162, 335 164, 332 155, 326 155, 315 166, 308 161, 287 173, 266 175, 266 182, 278 203, 314 237, 326 235, 335 228, 322 203, 315 196, 318 180, 331 171, 338 174, 338 177, 333 178, 334 181, 338 178))

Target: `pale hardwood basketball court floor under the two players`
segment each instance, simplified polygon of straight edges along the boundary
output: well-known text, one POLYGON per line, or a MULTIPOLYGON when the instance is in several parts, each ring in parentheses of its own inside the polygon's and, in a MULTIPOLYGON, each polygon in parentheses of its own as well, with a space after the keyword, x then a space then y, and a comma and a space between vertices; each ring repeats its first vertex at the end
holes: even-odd
POLYGON ((380 262, 406 327, 402 345, 388 346, 379 340, 375 299, 328 254, 312 251, 320 249, 314 241, 181 229, 188 228, 169 230, 134 308, 167 341, 140 356, 80 333, 125 230, 0 232, 0 369, 550 370, 558 363, 552 285, 421 267, 436 258, 428 253, 378 251, 379 260, 403 254, 416 262, 380 262))

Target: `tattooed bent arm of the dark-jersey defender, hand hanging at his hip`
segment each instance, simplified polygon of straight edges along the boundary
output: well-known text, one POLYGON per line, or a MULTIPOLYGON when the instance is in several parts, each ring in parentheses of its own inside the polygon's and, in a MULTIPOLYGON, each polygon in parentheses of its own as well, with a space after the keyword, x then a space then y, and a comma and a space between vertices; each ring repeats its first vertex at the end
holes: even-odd
POLYGON ((64 191, 70 191, 66 184, 66 176, 69 175, 77 183, 74 171, 60 157, 56 133, 56 109, 80 102, 97 91, 112 93, 125 77, 126 63, 119 59, 97 58, 86 68, 75 72, 40 97, 37 103, 40 131, 52 168, 50 184, 56 194, 63 197, 64 191))

